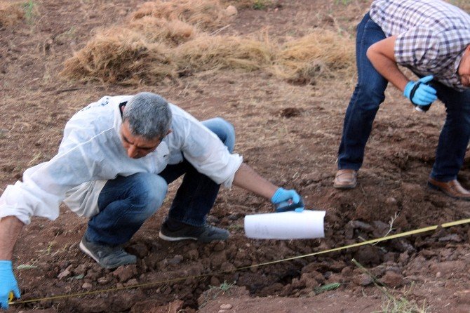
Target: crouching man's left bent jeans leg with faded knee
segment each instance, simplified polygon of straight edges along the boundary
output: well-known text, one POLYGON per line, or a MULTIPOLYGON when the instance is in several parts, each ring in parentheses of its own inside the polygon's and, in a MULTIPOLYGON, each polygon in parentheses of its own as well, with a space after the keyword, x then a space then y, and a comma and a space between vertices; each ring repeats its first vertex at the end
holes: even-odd
POLYGON ((124 244, 163 203, 168 185, 159 175, 136 173, 108 180, 98 197, 100 213, 88 221, 89 241, 124 244))

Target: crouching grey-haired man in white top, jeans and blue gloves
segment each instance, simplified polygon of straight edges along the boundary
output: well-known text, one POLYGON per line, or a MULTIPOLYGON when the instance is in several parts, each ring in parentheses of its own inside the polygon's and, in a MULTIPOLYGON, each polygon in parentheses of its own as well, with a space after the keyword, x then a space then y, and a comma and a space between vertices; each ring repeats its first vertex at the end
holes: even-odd
POLYGON ((77 112, 65 126, 58 154, 28 168, 23 181, 6 187, 0 197, 0 307, 8 307, 11 291, 20 297, 11 258, 22 226, 32 216, 54 220, 61 201, 90 218, 79 247, 106 268, 136 262, 122 245, 181 175, 159 232, 163 240, 227 239, 227 230, 206 222, 220 185, 233 183, 283 210, 303 210, 297 192, 255 173, 231 153, 234 144, 227 121, 197 121, 154 93, 104 97, 77 112))

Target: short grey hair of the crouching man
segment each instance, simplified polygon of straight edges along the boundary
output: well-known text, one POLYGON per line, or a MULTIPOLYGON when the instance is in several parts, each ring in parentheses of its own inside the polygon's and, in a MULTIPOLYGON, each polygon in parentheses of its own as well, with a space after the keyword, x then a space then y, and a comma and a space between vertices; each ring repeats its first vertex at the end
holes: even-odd
POLYGON ((168 101, 156 93, 137 93, 126 104, 122 120, 133 135, 152 140, 166 136, 171 126, 168 101))

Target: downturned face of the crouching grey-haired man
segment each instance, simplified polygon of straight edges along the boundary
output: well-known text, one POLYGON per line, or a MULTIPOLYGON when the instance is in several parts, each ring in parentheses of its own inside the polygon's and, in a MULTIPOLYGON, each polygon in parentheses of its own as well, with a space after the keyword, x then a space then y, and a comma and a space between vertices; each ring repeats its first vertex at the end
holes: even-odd
POLYGON ((148 140, 130 133, 128 121, 121 125, 121 140, 127 155, 132 159, 140 159, 150 152, 154 152, 160 145, 161 138, 148 140))

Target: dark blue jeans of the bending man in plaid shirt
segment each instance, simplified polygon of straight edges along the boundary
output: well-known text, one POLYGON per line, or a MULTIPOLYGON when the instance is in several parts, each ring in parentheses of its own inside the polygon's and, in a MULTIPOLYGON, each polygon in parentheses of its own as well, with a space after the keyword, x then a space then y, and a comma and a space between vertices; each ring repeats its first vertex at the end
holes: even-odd
MULTIPOLYGON (((365 144, 372 122, 385 99, 387 79, 375 70, 367 58, 367 49, 386 36, 379 25, 365 14, 357 27, 356 64, 358 82, 344 117, 343 133, 338 152, 338 168, 358 170, 364 159, 365 144)), ((436 149, 431 178, 454 180, 462 167, 466 145, 470 139, 470 90, 455 91, 433 81, 438 98, 445 104, 447 116, 436 149)))

